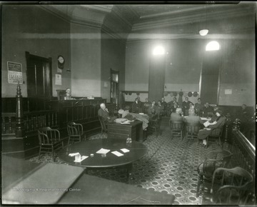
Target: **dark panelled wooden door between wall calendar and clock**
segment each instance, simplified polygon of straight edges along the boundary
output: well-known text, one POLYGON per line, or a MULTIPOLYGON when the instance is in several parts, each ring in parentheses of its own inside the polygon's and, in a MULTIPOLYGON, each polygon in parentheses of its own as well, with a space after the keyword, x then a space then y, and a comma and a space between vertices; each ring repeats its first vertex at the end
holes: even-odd
POLYGON ((28 97, 50 99, 51 58, 46 59, 26 52, 26 66, 28 97))

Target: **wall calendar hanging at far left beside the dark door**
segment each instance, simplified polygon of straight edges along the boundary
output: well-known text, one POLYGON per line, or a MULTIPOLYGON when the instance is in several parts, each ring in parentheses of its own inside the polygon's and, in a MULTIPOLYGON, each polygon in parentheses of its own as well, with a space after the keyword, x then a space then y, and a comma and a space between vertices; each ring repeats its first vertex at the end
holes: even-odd
POLYGON ((8 70, 8 83, 9 84, 22 84, 22 65, 14 62, 7 61, 8 70))

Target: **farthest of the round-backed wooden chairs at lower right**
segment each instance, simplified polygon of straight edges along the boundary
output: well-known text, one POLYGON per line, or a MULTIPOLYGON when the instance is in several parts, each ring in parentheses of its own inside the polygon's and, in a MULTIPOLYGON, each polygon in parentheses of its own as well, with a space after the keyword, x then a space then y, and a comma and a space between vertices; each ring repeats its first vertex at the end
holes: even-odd
POLYGON ((199 189, 200 185, 203 183, 203 178, 205 180, 210 180, 216 168, 228 166, 232 156, 233 154, 227 150, 209 151, 206 154, 206 158, 204 159, 203 163, 199 164, 197 168, 198 183, 196 197, 199 196, 199 189))

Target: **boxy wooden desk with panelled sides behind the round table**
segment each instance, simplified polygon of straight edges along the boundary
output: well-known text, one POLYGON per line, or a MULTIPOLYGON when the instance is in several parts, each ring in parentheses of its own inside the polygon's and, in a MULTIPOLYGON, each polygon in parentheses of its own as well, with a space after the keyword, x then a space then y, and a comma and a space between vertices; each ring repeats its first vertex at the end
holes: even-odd
POLYGON ((107 123, 108 138, 132 138, 133 141, 143 142, 143 122, 135 120, 129 124, 107 123))

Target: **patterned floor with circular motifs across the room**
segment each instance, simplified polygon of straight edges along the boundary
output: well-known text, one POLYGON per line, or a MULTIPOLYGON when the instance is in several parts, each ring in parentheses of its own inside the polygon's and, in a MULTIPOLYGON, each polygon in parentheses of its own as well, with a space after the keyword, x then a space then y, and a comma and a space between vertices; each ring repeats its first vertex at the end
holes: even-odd
MULTIPOLYGON (((133 172, 129 181, 126 177, 126 171, 121 168, 91 170, 89 174, 129 183, 149 191, 173 194, 176 196, 174 205, 201 205, 202 193, 196 198, 197 167, 203 161, 206 153, 216 150, 218 145, 211 143, 205 149, 198 145, 198 141, 186 140, 185 138, 181 140, 180 137, 176 136, 171 138, 168 126, 161 126, 161 131, 162 134, 158 138, 155 135, 149 135, 143 142, 148 147, 148 154, 133 163, 133 172)), ((102 136, 99 133, 89 139, 96 138, 106 138, 106 135, 102 136)), ((51 157, 42 156, 39 161, 37 157, 34 157, 30 160, 33 162, 51 162, 51 157)), ((64 163, 59 158, 56 158, 55 162, 64 163)))

